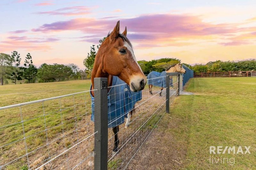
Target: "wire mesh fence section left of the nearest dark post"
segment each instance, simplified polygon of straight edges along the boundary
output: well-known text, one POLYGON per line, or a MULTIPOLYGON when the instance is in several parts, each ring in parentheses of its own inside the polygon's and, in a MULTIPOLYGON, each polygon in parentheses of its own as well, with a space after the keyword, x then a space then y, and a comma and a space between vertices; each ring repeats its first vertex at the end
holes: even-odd
POLYGON ((89 93, 0 107, 0 169, 93 168, 89 93))

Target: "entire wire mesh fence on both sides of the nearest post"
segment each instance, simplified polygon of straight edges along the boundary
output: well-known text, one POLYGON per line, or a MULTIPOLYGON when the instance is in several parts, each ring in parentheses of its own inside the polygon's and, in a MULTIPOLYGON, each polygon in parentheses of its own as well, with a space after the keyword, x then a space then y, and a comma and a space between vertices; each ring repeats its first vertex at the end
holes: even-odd
MULTIPOLYGON (((115 134, 108 129, 106 168, 129 165, 164 115, 166 101, 177 95, 178 79, 172 76, 170 83, 164 81, 166 76, 152 79, 152 95, 149 85, 139 93, 126 84, 108 87, 113 92, 108 95, 108 114, 116 115, 108 126, 122 124, 114 154, 115 134)), ((94 140, 99 131, 91 121, 92 91, 0 107, 0 169, 94 169, 94 140)))

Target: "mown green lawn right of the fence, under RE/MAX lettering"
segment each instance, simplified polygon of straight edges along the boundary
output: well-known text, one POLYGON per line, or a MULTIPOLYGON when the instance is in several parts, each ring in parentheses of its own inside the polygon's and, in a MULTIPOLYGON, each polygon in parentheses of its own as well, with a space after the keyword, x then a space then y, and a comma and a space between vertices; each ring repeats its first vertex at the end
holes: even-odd
POLYGON ((170 116, 177 126, 166 132, 185 148, 183 168, 256 169, 256 78, 193 78, 185 90, 195 95, 175 100, 170 116), (251 154, 210 155, 210 146, 251 146, 251 154), (235 164, 212 164, 210 156, 235 164))

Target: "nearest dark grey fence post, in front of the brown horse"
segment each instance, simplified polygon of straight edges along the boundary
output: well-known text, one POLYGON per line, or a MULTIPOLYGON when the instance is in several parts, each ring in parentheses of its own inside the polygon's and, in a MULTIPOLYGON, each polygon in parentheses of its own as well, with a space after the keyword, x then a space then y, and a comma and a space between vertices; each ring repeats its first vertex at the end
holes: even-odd
POLYGON ((94 169, 108 169, 108 78, 94 78, 94 169))

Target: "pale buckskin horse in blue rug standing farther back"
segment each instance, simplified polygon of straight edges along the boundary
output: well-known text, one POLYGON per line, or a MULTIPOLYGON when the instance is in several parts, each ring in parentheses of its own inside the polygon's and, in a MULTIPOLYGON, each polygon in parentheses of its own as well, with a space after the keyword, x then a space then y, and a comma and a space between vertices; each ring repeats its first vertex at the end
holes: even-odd
MULTIPOLYGON (((165 77, 166 73, 173 73, 173 72, 180 72, 180 73, 186 73, 186 70, 180 65, 180 63, 172 65, 171 67, 169 67, 169 69, 167 69, 166 71, 163 72, 157 72, 157 71, 151 71, 148 74, 148 89, 149 89, 149 93, 151 95, 153 95, 152 93, 152 87, 153 85, 161 87, 161 92, 160 92, 160 96, 162 96, 162 91, 164 89, 164 85, 166 85, 165 83, 165 77)), ((172 79, 172 76, 170 76, 170 79, 172 79)))

